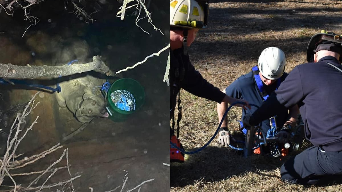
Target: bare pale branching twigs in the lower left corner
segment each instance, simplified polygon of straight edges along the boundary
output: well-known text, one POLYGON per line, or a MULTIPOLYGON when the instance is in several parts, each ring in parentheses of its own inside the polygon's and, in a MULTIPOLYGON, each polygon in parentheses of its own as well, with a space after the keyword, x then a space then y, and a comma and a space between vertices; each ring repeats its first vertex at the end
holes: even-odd
MULTIPOLYGON (((8 149, 5 152, 5 155, 3 157, 3 159, 0 158, 0 186, 3 182, 3 179, 5 176, 10 177, 10 179, 12 180, 12 182, 14 183, 14 186, 6 186, 9 188, 13 188, 13 189, 9 189, 9 190, 3 190, 0 192, 24 192, 24 191, 31 191, 31 190, 38 190, 39 192, 42 189, 47 189, 47 188, 51 188, 51 187, 55 187, 55 186, 62 186, 62 185, 66 185, 67 183, 70 182, 71 184, 71 188, 72 188, 72 192, 73 192, 73 183, 72 181, 76 178, 79 178, 80 175, 73 177, 67 181, 61 181, 61 182, 57 182, 57 183, 52 183, 49 184, 48 186, 45 186, 45 184, 52 178, 52 176, 55 175, 55 173, 62 169, 62 168, 67 168, 68 172, 71 176, 70 173, 70 169, 69 169, 69 161, 68 161, 68 149, 64 149, 62 155, 60 156, 60 158, 58 160, 56 160, 54 163, 52 163, 49 167, 47 167, 45 170, 41 170, 41 171, 37 171, 37 172, 29 172, 29 173, 17 173, 17 174, 10 174, 9 170, 11 169, 18 169, 18 168, 22 168, 25 167, 26 165, 29 165, 31 163, 34 163, 36 161, 38 161, 41 158, 44 158, 47 154, 50 154, 54 151, 56 151, 59 148, 62 148, 63 146, 61 146, 60 143, 58 143, 57 145, 51 147, 48 150, 45 150, 39 154, 36 155, 32 155, 30 157, 25 157, 22 160, 15 160, 17 157, 23 155, 23 154, 19 154, 16 155, 16 150, 19 146, 19 144, 21 143, 21 141, 26 137, 27 133, 32 129, 32 127, 37 123, 37 119, 39 118, 39 116, 37 116, 37 118, 34 120, 34 122, 31 123, 31 125, 26 128, 23 129, 21 128, 22 125, 25 123, 25 118, 27 117, 27 115, 29 115, 31 113, 32 110, 34 110, 37 105, 39 104, 39 102, 36 103, 36 96, 38 93, 36 93, 31 100, 28 102, 28 104, 26 105, 26 107, 24 108, 24 110, 22 112, 18 112, 16 115, 16 119, 13 122, 11 129, 10 129, 10 134, 9 134, 9 138, 7 140, 8 143, 8 149), (24 132, 21 136, 19 136, 19 133, 24 132), (63 159, 63 157, 66 155, 67 158, 67 166, 64 167, 56 167, 54 168, 54 166, 57 163, 60 163, 63 159), (37 184, 37 182, 39 181, 39 179, 41 177, 43 177, 46 173, 51 172, 51 174, 44 180, 44 182, 37 187, 31 187, 33 184, 37 184), (39 174, 38 177, 31 181, 29 183, 29 185, 27 187, 23 187, 21 185, 17 185, 16 181, 14 180, 13 176, 27 176, 27 175, 34 175, 34 174, 39 174)), ((2 186, 4 187, 4 186, 2 186)), ((63 187, 64 188, 64 187, 63 187)), ((38 192, 37 191, 37 192, 38 192)))

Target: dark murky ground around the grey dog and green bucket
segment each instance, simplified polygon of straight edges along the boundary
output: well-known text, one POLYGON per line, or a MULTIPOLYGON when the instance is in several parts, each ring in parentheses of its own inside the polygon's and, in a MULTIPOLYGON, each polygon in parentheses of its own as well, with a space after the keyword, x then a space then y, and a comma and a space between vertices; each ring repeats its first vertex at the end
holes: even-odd
MULTIPOLYGON (((100 12, 92 15, 96 19, 92 24, 71 14, 72 8, 65 11, 63 1, 52 2, 44 1, 32 6, 31 14, 40 18, 40 22, 31 26, 24 37, 22 35, 30 23, 23 20, 21 10, 17 10, 13 17, 4 11, 0 13, 0 63, 55 66, 65 65, 67 60, 89 61, 94 55, 102 55, 111 70, 118 71, 158 52, 169 42, 169 26, 164 22, 169 16, 168 10, 160 9, 166 7, 166 3, 149 4, 154 24, 165 35, 154 31, 146 19, 141 20, 141 26, 151 33, 148 35, 135 26, 134 10, 127 11, 124 21, 116 17, 120 6, 117 1, 101 1, 106 3, 101 4, 100 12)), ((119 76, 133 78, 145 88, 145 104, 129 120, 113 122, 104 118, 94 119, 83 132, 65 142, 62 137, 75 131, 81 123, 67 108, 58 106, 54 94, 40 92, 37 99, 40 103, 27 119, 29 125, 39 115, 38 123, 22 141, 17 153, 30 156, 61 142, 64 148, 68 148, 71 174, 81 175, 73 182, 75 191, 90 191, 89 187, 92 187, 100 192, 122 186, 126 175, 122 170, 127 171, 129 177, 123 191, 152 178, 155 180, 144 184, 141 191, 169 191, 169 167, 162 164, 169 162, 169 144, 166 142, 169 137, 169 87, 162 82, 167 55, 165 52, 160 57, 150 58, 145 64, 119 76)), ((47 84, 55 87, 55 83, 52 80, 47 84)), ((36 92, 25 86, 0 85, 3 99, 0 129, 8 132, 15 111, 22 110, 22 104, 36 92), (21 106, 11 113, 8 111, 17 105, 21 106)), ((5 136, 1 138, 1 148, 4 149, 5 136)), ((46 156, 21 172, 45 169, 60 157, 62 151, 46 156)), ((63 160, 59 166, 65 164, 63 160)), ((67 178, 70 176, 66 170, 58 171, 51 182, 67 178)), ((30 179, 15 177, 17 184, 22 183, 23 186, 30 179)), ((9 180, 4 184, 12 185, 9 180)))

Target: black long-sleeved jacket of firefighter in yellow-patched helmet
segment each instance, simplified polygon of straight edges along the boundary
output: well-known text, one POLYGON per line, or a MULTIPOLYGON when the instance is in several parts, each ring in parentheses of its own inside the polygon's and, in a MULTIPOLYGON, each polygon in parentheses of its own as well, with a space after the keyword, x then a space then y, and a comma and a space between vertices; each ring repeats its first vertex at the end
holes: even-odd
POLYGON ((180 89, 221 103, 225 94, 214 87, 191 64, 189 55, 183 54, 183 49, 171 50, 170 52, 170 109, 171 114, 176 106, 176 98, 180 89), (178 74, 178 77, 176 77, 178 74))

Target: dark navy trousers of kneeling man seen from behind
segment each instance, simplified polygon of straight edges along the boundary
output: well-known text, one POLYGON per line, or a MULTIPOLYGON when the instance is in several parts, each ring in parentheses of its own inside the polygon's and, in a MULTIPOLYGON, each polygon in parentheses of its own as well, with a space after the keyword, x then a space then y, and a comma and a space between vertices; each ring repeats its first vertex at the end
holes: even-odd
POLYGON ((281 180, 298 184, 326 184, 342 178, 342 151, 310 147, 291 157, 280 169, 281 180))

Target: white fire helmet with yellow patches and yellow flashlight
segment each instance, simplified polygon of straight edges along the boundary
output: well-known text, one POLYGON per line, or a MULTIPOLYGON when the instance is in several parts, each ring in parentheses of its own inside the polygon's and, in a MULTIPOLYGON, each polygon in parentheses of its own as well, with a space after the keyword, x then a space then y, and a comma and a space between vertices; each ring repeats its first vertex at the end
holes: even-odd
POLYGON ((170 0, 170 26, 188 29, 207 27, 208 0, 170 0))

